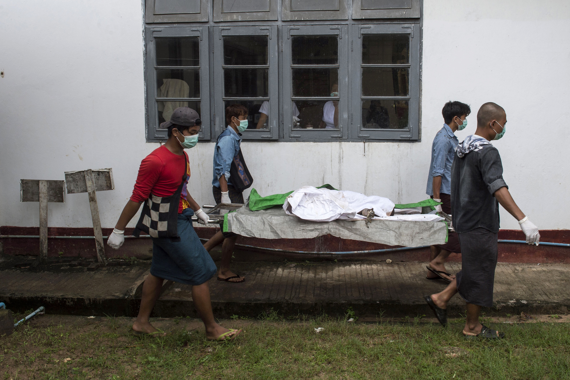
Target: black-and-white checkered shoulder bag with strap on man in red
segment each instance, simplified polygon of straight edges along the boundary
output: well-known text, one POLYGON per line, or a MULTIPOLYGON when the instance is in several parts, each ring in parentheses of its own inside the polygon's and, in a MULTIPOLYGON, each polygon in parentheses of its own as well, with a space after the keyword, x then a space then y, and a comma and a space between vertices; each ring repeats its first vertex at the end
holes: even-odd
POLYGON ((186 183, 188 176, 188 159, 184 154, 185 165, 182 183, 176 192, 169 197, 157 197, 150 194, 150 197, 143 205, 143 211, 133 231, 133 236, 139 237, 141 232, 145 232, 151 237, 169 237, 172 241, 180 241, 178 236, 178 205, 180 204, 180 194, 182 187, 186 183))

